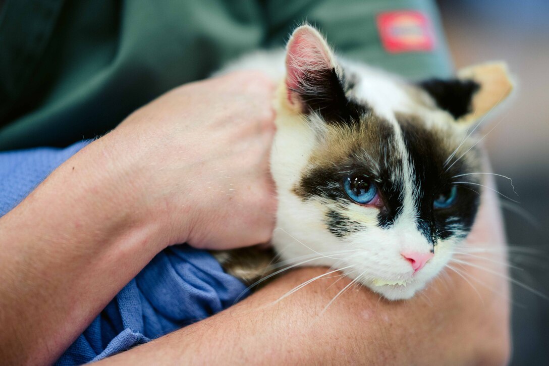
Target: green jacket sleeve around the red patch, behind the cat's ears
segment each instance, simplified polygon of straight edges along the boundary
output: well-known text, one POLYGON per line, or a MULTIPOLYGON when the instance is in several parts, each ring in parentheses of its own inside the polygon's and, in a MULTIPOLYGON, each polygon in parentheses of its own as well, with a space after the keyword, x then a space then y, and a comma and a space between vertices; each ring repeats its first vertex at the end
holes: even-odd
POLYGON ((270 46, 283 45, 288 34, 307 21, 322 31, 336 52, 346 57, 418 79, 452 74, 440 16, 432 0, 270 0, 266 14, 270 46), (389 53, 384 49, 376 17, 396 10, 416 10, 427 16, 434 31, 432 51, 389 53))

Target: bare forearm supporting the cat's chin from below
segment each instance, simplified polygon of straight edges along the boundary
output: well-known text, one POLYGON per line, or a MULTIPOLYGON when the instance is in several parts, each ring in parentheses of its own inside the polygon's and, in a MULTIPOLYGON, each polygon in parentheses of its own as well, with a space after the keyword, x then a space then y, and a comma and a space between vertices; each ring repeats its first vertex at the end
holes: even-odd
POLYGON ((486 255, 464 258, 485 270, 464 265, 468 280, 449 271, 411 300, 394 302, 359 286, 323 312, 350 282, 332 274, 276 302, 328 271, 302 268, 219 314, 99 364, 506 364, 511 345, 502 232, 497 199, 487 190, 467 242, 486 255))

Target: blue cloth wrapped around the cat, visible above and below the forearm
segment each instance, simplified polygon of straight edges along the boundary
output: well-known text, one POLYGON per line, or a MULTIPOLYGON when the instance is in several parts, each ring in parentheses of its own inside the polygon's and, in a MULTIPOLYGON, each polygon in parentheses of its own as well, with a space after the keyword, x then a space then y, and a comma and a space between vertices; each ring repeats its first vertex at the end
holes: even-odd
MULTIPOLYGON (((0 152, 0 215, 86 146, 0 152)), ((186 245, 159 253, 72 343, 58 365, 99 361, 231 306, 245 286, 206 251, 186 245)))

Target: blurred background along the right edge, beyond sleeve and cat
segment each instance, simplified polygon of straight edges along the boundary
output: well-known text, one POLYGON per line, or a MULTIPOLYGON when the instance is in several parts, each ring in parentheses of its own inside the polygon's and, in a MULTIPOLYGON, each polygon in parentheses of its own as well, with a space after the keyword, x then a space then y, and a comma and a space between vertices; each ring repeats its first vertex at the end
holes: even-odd
MULTIPOLYGON (((516 267, 514 280, 549 296, 549 1, 439 0, 457 68, 505 60, 516 93, 486 137, 516 267), (517 247, 517 248, 515 248, 517 247), (516 252, 514 252, 516 249, 516 252)), ((513 365, 549 362, 549 300, 513 285, 513 365)))

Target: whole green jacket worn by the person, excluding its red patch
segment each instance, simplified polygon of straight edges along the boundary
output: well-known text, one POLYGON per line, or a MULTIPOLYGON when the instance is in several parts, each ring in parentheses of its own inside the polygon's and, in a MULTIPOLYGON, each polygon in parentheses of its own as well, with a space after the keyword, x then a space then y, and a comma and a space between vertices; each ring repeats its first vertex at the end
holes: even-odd
POLYGON ((170 88, 282 46, 304 21, 350 58, 415 78, 452 71, 432 0, 6 0, 0 150, 104 134, 170 88), (378 15, 393 10, 427 16, 434 49, 388 52, 378 15))

